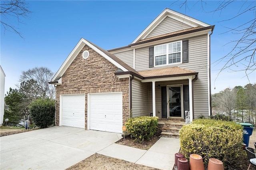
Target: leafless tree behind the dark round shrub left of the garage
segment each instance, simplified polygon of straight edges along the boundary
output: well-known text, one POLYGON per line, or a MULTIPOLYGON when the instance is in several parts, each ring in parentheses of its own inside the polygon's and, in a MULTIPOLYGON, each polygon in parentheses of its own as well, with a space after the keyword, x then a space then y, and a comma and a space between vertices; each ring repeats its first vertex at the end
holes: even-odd
POLYGON ((23 82, 31 79, 37 81, 40 87, 40 97, 54 99, 55 88, 53 85, 48 83, 52 77, 53 72, 47 67, 34 67, 32 69, 28 69, 27 71, 22 71, 19 81, 23 82))

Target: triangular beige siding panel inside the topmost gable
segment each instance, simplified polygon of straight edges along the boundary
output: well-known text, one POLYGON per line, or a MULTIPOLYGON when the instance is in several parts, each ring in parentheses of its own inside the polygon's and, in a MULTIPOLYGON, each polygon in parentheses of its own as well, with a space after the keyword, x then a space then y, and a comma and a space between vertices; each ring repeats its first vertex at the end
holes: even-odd
POLYGON ((174 20, 173 18, 166 17, 146 38, 151 38, 155 36, 160 36, 163 34, 168 34, 170 32, 176 32, 184 29, 192 28, 187 24, 180 21, 174 20))

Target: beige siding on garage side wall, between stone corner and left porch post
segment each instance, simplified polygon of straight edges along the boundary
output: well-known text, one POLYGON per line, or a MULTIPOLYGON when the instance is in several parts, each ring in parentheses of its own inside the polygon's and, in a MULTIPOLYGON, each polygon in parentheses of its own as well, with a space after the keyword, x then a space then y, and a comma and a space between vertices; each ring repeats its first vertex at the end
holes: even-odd
POLYGON ((132 117, 150 116, 148 112, 148 83, 132 80, 132 117))

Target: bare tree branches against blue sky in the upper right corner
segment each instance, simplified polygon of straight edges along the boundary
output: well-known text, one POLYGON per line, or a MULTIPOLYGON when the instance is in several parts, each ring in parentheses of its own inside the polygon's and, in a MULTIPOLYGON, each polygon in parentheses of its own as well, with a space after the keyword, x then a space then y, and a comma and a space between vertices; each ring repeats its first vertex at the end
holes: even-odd
MULTIPOLYGON (((227 0, 227 1, 216 1, 217 8, 215 10, 209 11, 213 14, 222 13, 222 11, 227 10, 227 7, 230 4, 236 3, 238 1, 235 0, 227 0)), ((256 1, 242 1, 242 5, 238 8, 232 9, 232 16, 226 20, 221 20, 218 22, 222 22, 225 24, 227 21, 232 21, 234 18, 242 17, 244 14, 251 14, 251 17, 243 17, 240 20, 240 25, 234 28, 225 27, 228 31, 223 32, 222 34, 232 33, 239 35, 240 38, 237 40, 230 40, 227 44, 232 44, 232 49, 220 59, 215 61, 214 63, 220 64, 220 62, 224 61, 225 64, 220 69, 218 75, 225 69, 230 69, 232 71, 244 71, 245 76, 250 81, 248 75, 256 72, 256 1), (243 65, 243 67, 238 67, 238 64, 243 65)), ((175 1, 173 4, 178 4, 180 8, 190 9, 188 1, 175 1)), ((195 5, 200 5, 202 10, 206 11, 208 1, 206 0, 198 0, 193 3, 193 8, 195 5)), ((227 45, 225 44, 225 45, 227 45)), ((217 76, 218 77, 218 76, 217 76)))

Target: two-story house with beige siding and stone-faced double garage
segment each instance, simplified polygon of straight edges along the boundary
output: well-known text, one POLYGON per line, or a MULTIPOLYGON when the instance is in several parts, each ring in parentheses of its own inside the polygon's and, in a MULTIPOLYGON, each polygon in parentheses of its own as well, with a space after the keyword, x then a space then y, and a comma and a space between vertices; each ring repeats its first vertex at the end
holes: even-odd
POLYGON ((213 29, 166 8, 127 46, 106 51, 82 38, 50 82, 56 125, 122 132, 131 115, 209 116, 213 29))

